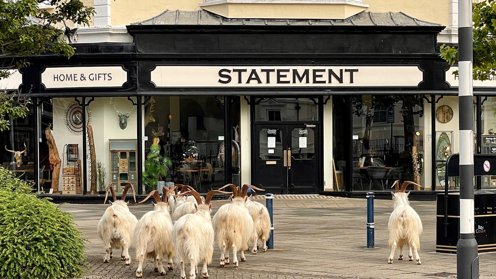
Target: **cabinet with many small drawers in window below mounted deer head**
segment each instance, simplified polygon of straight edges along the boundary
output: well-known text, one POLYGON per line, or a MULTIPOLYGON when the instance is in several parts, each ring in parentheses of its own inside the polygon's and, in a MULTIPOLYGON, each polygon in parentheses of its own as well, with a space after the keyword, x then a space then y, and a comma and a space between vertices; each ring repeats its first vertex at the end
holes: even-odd
POLYGON ((111 139, 110 142, 110 181, 115 192, 122 193, 126 184, 133 184, 136 189, 136 140, 111 139))

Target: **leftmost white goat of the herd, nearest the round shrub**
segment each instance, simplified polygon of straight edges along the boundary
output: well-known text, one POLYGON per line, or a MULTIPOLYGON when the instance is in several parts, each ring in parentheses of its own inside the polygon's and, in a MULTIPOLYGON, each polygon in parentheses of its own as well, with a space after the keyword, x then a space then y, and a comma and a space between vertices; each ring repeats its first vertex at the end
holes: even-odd
POLYGON ((133 243, 133 230, 136 227, 136 223, 138 223, 138 219, 129 211, 128 203, 126 203, 126 194, 130 188, 133 190, 133 197, 136 202, 136 192, 131 183, 126 185, 119 201, 115 197, 112 183, 107 187, 104 204, 107 202, 109 190, 111 190, 113 202, 109 201, 111 205, 105 210, 102 219, 98 222, 98 236, 103 240, 107 252, 103 260, 104 263, 108 263, 112 258, 113 248, 122 248, 120 260, 126 261, 126 265, 131 265, 129 246, 133 243))

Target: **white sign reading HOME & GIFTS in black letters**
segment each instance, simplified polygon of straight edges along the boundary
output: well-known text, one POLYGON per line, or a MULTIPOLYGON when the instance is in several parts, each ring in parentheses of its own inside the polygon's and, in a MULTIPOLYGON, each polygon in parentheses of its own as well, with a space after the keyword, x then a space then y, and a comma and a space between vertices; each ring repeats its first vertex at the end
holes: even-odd
POLYGON ((45 88, 121 87, 127 81, 120 66, 46 68, 41 74, 45 88))

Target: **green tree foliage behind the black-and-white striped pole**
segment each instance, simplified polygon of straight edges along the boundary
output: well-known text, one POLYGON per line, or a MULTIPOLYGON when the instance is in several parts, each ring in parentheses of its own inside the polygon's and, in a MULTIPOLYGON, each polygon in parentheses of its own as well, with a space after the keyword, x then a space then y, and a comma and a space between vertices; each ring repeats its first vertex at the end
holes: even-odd
MULTIPOLYGON (((496 74, 496 0, 486 0, 472 5, 472 20, 474 23, 474 72, 476 80, 488 80, 496 74)), ((440 48, 441 57, 450 66, 458 62, 458 48, 443 44, 440 48)), ((453 72, 458 74, 458 71, 453 72)))

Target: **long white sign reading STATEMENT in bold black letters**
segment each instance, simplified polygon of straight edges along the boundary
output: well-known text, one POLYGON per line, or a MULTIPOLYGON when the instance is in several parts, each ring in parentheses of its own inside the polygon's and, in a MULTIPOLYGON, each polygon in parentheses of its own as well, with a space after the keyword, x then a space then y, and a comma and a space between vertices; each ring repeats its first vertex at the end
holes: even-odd
POLYGON ((418 86, 416 66, 157 66, 157 87, 418 86))

